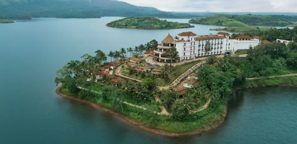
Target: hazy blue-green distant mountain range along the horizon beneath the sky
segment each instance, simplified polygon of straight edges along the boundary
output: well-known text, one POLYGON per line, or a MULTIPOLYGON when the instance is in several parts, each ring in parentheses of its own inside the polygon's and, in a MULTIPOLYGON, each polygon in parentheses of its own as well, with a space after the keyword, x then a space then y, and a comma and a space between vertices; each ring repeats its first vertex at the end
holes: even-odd
MULTIPOLYGON (((248 13, 251 12, 242 12, 242 14, 248 13)), ((135 6, 117 0, 0 0, 0 19, 6 20, 24 20, 32 17, 99 18, 101 16, 193 18, 213 14, 217 13, 166 12, 154 7, 135 6)), ((226 12, 226 14, 231 13, 226 12)), ((273 13, 269 13, 271 14, 273 13)), ((297 13, 281 14, 297 15, 297 13)))

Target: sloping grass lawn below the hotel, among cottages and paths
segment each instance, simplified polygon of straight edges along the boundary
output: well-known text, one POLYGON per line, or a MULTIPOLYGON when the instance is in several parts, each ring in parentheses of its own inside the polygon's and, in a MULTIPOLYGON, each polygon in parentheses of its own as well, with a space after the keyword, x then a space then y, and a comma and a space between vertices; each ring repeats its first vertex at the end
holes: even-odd
MULTIPOLYGON (((192 68, 194 65, 196 65, 197 63, 200 63, 200 60, 194 61, 194 62, 190 62, 190 63, 185 63, 183 65, 179 65, 174 67, 173 72, 171 72, 170 76, 168 79, 164 79, 164 78, 156 78, 156 82, 159 85, 168 85, 171 81, 175 80, 178 76, 180 76, 181 74, 183 74, 184 71, 192 68)), ((162 67, 160 67, 162 68, 162 67)), ((160 69, 158 68, 158 69, 160 69)), ((140 75, 136 76, 135 73, 129 74, 129 71, 127 69, 123 69, 121 68, 120 70, 121 74, 124 76, 128 76, 128 77, 132 77, 132 78, 136 78, 139 80, 144 81, 145 77, 141 77, 140 75)))

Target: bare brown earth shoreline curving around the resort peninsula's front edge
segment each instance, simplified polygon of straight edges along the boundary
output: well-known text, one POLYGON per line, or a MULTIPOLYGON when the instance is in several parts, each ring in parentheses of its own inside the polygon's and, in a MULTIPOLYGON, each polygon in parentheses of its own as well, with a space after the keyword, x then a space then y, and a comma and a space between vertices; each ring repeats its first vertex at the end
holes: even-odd
POLYGON ((96 104, 94 102, 91 102, 91 101, 88 101, 88 100, 85 100, 85 99, 76 98, 76 97, 73 97, 73 96, 69 96, 67 94, 62 94, 59 91, 60 88, 61 88, 61 85, 57 87, 56 93, 58 95, 64 97, 64 98, 69 98, 69 99, 72 99, 72 100, 77 100, 77 101, 82 102, 82 103, 87 103, 90 106, 92 106, 92 107, 94 107, 94 108, 96 108, 96 109, 98 109, 98 110, 100 110, 102 112, 107 112, 109 114, 112 114, 113 116, 121 118, 125 122, 127 122, 129 124, 132 124, 133 126, 136 126, 137 128, 140 128, 142 130, 145 130, 147 132, 154 133, 154 134, 157 134, 157 135, 166 136, 166 137, 190 136, 190 135, 201 134, 201 133, 216 129, 217 127, 219 127, 220 125, 223 124, 223 122, 225 121, 226 115, 227 115, 227 106, 224 106, 224 111, 222 113, 221 120, 218 123, 213 124, 210 127, 204 127, 204 128, 196 129, 196 130, 193 130, 193 131, 184 132, 184 133, 170 132, 170 131, 166 131, 166 130, 162 130, 162 129, 150 128, 150 127, 138 122, 135 119, 132 119, 132 118, 130 118, 128 116, 125 116, 124 114, 115 112, 114 110, 112 110, 110 108, 104 107, 104 106, 96 104))

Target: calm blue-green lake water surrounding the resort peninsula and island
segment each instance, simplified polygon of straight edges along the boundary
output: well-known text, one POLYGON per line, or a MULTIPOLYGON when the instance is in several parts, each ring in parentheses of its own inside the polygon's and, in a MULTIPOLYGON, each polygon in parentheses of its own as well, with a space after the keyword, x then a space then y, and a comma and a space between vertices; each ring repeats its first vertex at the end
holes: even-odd
MULTIPOLYGON (((226 122, 202 135, 168 138, 147 133, 93 107, 55 93, 55 70, 101 49, 106 53, 183 31, 108 28, 120 19, 40 18, 0 24, 0 144, 66 143, 295 143, 297 90, 256 88, 238 92, 226 122)), ((172 21, 187 22, 183 19, 172 21)))

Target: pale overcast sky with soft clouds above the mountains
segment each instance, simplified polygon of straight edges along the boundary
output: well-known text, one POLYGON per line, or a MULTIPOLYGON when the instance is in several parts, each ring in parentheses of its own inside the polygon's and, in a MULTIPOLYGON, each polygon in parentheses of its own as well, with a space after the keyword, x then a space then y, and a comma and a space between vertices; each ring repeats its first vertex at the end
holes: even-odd
POLYGON ((297 12, 297 0, 120 0, 162 11, 297 12))

